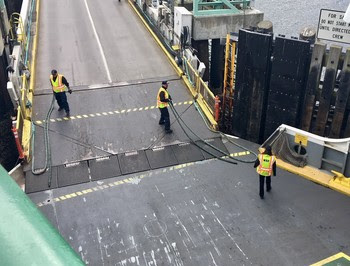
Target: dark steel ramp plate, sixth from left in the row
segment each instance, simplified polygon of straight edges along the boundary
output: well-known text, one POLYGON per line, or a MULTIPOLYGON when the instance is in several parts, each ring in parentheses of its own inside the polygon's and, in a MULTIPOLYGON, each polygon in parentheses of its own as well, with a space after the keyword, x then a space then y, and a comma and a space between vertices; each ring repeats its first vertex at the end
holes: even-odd
POLYGON ((179 164, 204 160, 201 149, 192 143, 181 143, 172 148, 179 164))

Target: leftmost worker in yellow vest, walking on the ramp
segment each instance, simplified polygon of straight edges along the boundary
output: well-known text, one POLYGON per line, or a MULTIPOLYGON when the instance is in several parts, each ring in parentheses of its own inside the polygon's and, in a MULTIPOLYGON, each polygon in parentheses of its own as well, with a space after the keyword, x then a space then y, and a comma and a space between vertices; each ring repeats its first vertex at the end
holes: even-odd
POLYGON ((68 81, 63 75, 58 74, 57 70, 53 69, 50 75, 50 83, 52 86, 53 94, 55 95, 57 104, 59 106, 58 111, 62 111, 64 109, 66 111, 66 117, 69 117, 70 112, 66 91, 71 94, 72 90, 69 88, 68 81))

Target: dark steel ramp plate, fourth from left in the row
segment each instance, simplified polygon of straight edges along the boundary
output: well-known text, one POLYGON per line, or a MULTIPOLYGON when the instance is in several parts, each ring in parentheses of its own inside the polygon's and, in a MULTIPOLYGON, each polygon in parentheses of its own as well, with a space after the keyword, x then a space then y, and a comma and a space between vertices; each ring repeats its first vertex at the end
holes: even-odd
POLYGON ((118 159, 123 175, 150 169, 146 153, 143 150, 118 154, 118 159))

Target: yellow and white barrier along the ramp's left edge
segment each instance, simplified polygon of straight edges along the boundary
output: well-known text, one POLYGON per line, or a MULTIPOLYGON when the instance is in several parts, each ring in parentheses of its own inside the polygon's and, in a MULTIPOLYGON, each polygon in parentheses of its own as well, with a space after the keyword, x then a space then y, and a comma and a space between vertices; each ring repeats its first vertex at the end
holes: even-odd
POLYGON ((10 18, 10 38, 17 44, 14 45, 11 55, 11 71, 7 87, 12 102, 17 107, 16 130, 27 160, 30 160, 31 107, 34 87, 34 76, 31 77, 30 73, 35 71, 33 61, 37 41, 35 38, 33 53, 30 56, 31 22, 34 9, 38 13, 39 0, 24 0, 21 14, 13 13, 10 18))

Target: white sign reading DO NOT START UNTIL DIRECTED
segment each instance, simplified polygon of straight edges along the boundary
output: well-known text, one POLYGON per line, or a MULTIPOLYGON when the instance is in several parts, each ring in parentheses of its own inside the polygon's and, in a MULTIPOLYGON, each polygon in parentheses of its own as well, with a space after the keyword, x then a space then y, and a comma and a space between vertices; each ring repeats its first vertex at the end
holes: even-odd
POLYGON ((343 20, 345 12, 321 9, 317 38, 350 44, 350 23, 343 20))

